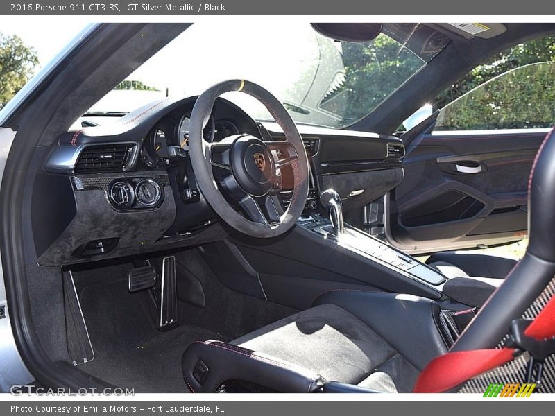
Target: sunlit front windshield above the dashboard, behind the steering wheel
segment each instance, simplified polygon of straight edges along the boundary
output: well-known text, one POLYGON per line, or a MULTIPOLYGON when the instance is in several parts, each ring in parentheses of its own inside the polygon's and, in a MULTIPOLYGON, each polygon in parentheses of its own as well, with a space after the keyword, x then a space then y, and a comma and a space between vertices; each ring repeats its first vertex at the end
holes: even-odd
MULTIPOLYGON (((194 96, 223 80, 242 78, 277 96, 298 123, 343 128, 370 113, 443 50, 447 38, 429 31, 418 24, 384 24, 373 42, 355 44, 323 37, 306 23, 280 28, 232 21, 218 26, 198 23, 89 113, 130 112, 164 96, 194 96)), ((264 106, 246 94, 228 93, 224 98, 257 120, 271 119, 264 106)))

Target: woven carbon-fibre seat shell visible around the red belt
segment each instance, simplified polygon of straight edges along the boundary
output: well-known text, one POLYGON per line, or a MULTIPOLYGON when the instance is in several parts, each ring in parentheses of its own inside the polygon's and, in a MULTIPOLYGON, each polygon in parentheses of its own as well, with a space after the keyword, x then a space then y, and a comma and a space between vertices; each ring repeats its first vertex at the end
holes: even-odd
MULTIPOLYGON (((526 312, 522 314, 522 318, 533 319, 536 318, 538 313, 549 302, 555 294, 555 278, 549 282, 549 285, 539 295, 536 300, 529 306, 526 312)), ((503 340, 497 345, 497 348, 503 347, 509 335, 505 336, 503 340)), ((523 383, 526 380, 526 370, 529 361, 529 354, 524 353, 510 363, 506 363, 497 367, 489 372, 480 374, 474 379, 470 379, 459 390, 460 393, 480 393, 483 394, 490 383, 506 384, 506 383, 523 383)), ((538 393, 553 393, 555 392, 555 355, 550 356, 545 361, 543 366, 542 383, 536 387, 535 392, 538 393)))

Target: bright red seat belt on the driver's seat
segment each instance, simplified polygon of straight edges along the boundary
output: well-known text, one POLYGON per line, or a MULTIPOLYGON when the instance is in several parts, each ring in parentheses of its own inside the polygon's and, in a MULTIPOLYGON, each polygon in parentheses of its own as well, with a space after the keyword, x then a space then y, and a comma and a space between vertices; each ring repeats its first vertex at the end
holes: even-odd
MULTIPOLYGON (((555 337, 555 297, 538 313, 524 330, 524 335, 538 341, 555 337)), ((474 376, 509 363, 522 351, 515 348, 474 349, 447 352, 434 358, 418 377, 413 392, 441 393, 474 376)))

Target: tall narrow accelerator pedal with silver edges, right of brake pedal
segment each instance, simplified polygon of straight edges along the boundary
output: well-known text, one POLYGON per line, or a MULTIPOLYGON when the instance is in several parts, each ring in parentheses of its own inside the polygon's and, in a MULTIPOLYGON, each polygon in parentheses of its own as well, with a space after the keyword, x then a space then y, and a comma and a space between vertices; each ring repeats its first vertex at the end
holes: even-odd
POLYGON ((160 284, 160 331, 168 331, 178 325, 178 297, 176 290, 176 257, 162 260, 160 284))

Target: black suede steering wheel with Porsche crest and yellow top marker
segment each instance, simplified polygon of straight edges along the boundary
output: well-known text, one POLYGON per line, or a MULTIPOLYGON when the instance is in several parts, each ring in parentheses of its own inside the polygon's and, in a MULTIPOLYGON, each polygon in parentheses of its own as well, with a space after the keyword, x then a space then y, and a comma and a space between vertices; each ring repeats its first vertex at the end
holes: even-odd
POLYGON ((279 236, 291 229, 302 214, 309 188, 305 146, 282 103, 259 85, 229 80, 203 92, 191 112, 189 153, 203 196, 216 214, 237 231, 259 238, 279 236), (262 141, 248 134, 232 135, 216 143, 205 141, 203 130, 216 98, 232 91, 253 96, 264 104, 283 129, 285 141, 262 141), (284 210, 279 197, 281 169, 289 165, 293 192, 289 207, 284 210))

